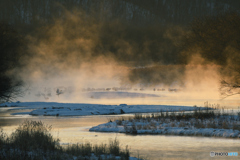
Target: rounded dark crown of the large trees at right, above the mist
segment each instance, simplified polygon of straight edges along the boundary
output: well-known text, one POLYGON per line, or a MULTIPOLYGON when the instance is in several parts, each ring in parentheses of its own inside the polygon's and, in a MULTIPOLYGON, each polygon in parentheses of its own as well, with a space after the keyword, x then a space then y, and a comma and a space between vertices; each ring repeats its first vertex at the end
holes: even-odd
POLYGON ((239 62, 240 16, 236 12, 196 19, 191 24, 182 48, 186 51, 183 58, 188 60, 191 51, 199 51, 203 58, 219 65, 239 62), (186 57, 186 58, 185 58, 186 57), (236 59, 237 58, 237 59, 236 59))

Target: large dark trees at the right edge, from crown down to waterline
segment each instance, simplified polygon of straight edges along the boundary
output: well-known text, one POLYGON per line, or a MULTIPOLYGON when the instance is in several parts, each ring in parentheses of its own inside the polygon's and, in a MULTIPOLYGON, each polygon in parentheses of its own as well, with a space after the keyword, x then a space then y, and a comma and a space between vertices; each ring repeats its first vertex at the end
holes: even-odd
POLYGON ((236 12, 195 20, 182 47, 185 63, 198 53, 221 67, 220 92, 223 97, 239 94, 240 15, 236 12))

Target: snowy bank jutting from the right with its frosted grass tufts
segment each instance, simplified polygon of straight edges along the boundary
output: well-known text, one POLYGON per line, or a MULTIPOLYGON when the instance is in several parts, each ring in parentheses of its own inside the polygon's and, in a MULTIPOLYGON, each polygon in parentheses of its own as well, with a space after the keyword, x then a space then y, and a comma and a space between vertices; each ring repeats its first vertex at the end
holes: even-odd
POLYGON ((90 131, 129 134, 172 134, 189 136, 216 136, 240 138, 240 114, 229 115, 214 110, 196 110, 193 113, 135 114, 109 120, 90 131))

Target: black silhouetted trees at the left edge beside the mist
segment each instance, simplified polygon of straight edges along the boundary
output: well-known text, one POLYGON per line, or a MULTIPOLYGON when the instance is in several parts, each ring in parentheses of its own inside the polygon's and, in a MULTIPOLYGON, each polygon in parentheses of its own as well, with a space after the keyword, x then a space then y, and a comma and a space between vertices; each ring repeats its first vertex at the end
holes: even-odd
POLYGON ((11 101, 21 94, 22 81, 16 69, 22 66, 23 38, 5 23, 0 23, 0 102, 11 101))

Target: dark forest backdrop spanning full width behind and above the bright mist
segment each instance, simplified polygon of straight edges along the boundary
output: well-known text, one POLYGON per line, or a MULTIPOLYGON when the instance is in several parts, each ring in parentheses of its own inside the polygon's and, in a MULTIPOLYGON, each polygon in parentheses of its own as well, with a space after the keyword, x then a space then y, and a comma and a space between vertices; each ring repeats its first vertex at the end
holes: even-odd
MULTIPOLYGON (((42 72, 56 74, 49 67, 72 69, 99 56, 134 67, 186 65, 198 53, 225 68, 222 73, 227 77, 239 73, 238 68, 234 72, 226 70, 239 64, 239 2, 148 2, 1 1, 0 99, 11 100, 20 94, 21 68, 38 66, 45 69, 42 72), (43 67, 43 62, 47 67, 43 67)), ((128 78, 133 83, 170 85, 182 74, 184 67, 170 67, 169 72, 153 67, 132 69, 128 78)))

